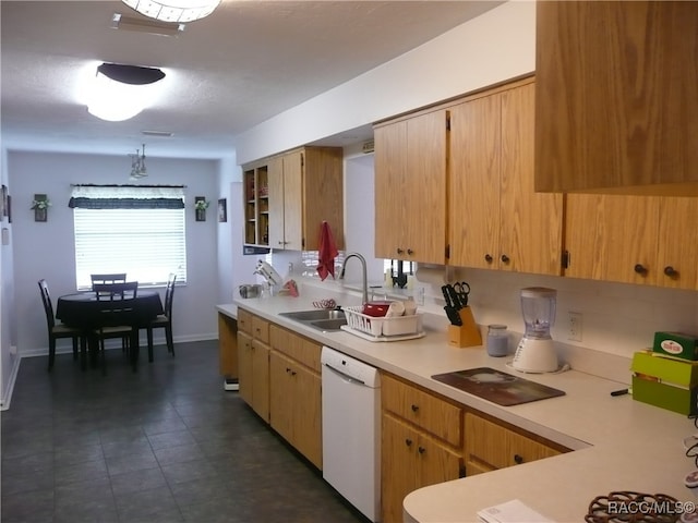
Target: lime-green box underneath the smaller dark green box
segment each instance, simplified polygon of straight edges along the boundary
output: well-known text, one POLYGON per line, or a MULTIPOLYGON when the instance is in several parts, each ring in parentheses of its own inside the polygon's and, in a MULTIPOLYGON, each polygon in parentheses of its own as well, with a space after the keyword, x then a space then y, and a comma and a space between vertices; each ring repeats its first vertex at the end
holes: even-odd
POLYGON ((633 399, 684 415, 698 413, 698 362, 651 351, 633 356, 633 399))

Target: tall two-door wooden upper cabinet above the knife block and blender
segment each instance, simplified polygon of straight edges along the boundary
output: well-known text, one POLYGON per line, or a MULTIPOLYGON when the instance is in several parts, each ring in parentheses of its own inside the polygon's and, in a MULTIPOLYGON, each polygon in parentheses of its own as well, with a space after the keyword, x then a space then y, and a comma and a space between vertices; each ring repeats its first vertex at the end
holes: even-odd
POLYGON ((563 196, 533 188, 533 80, 450 109, 450 265, 559 275, 563 196))

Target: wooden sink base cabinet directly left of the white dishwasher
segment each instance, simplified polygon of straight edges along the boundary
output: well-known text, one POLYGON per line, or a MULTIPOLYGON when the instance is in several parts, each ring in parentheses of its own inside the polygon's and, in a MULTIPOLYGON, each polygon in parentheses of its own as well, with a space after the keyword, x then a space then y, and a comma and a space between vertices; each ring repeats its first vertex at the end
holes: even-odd
POLYGON ((318 369, 301 363, 312 349, 317 352, 320 362, 321 345, 277 326, 272 327, 270 338, 269 424, 311 463, 322 469, 322 381, 318 369), (297 357, 290 356, 289 352, 297 357))

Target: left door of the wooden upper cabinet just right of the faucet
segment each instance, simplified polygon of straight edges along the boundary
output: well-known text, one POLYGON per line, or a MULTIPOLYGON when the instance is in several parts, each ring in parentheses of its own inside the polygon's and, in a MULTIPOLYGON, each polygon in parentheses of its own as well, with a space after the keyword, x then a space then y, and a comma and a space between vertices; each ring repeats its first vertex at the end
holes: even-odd
POLYGON ((399 194, 407 172, 407 122, 377 126, 375 144, 375 257, 393 259, 405 244, 406 207, 399 194))

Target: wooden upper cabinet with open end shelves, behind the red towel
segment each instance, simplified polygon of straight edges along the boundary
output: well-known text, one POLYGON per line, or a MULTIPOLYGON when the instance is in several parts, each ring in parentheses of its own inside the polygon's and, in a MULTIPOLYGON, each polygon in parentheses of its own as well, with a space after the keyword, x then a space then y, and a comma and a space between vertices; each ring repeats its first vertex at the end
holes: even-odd
MULTIPOLYGON (((257 206, 257 221, 264 224, 257 244, 317 251, 320 228, 327 221, 337 248, 344 248, 342 157, 341 147, 302 147, 254 163, 263 168, 250 172, 264 169, 268 187, 268 208, 257 206)), ((251 207, 246 200, 245 206, 251 207)))

